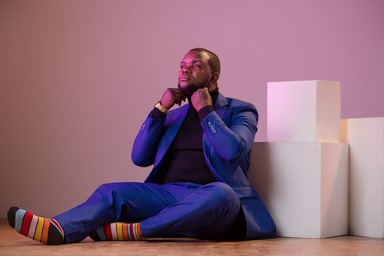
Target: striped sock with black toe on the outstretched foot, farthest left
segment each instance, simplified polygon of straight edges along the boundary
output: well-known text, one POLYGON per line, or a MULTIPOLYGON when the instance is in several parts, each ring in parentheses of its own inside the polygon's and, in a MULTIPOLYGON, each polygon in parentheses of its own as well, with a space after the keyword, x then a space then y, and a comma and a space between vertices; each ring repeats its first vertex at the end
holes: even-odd
POLYGON ((44 244, 59 245, 64 241, 64 232, 55 219, 41 218, 18 207, 9 208, 8 223, 23 236, 44 244))

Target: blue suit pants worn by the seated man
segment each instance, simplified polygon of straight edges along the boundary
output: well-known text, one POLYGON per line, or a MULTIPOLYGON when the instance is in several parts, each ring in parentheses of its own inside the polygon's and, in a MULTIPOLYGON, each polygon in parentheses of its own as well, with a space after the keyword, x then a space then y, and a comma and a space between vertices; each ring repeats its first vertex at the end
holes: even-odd
POLYGON ((79 206, 54 217, 65 243, 83 240, 109 222, 140 222, 144 238, 189 236, 233 238, 240 200, 225 183, 103 184, 79 206))

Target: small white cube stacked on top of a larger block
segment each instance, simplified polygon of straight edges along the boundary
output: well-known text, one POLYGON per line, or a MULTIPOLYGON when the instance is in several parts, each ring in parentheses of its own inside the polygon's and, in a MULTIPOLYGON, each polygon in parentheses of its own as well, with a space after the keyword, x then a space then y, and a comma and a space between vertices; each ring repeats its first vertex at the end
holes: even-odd
POLYGON ((268 141, 340 141, 340 82, 268 82, 267 91, 268 141))

